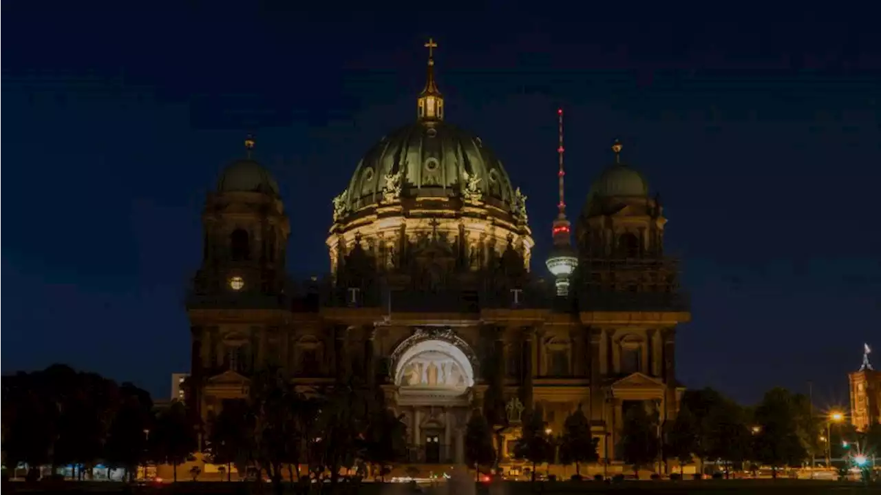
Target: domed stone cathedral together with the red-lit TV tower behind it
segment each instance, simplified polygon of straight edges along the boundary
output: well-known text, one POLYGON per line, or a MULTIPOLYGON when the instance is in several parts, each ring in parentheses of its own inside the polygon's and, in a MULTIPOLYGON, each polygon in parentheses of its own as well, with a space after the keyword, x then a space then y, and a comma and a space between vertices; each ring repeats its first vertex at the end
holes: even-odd
POLYGON ((435 47, 416 118, 366 151, 333 198, 327 279, 285 275, 290 224, 253 140, 220 175, 187 301, 197 407, 215 414, 255 370, 280 366, 304 391, 352 376, 381 389, 411 462, 463 462, 480 408, 496 412, 504 465, 525 411, 561 432, 579 407, 613 461, 628 408, 665 421, 683 391, 675 335, 691 315, 659 197, 616 142, 573 236, 561 132, 559 215, 536 270, 526 196, 489 144, 448 123, 435 47))

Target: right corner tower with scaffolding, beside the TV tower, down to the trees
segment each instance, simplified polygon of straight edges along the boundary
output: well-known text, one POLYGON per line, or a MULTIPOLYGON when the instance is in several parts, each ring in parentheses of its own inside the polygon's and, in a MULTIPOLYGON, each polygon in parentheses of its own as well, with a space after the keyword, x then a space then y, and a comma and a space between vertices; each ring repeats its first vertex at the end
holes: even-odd
POLYGON ((684 390, 676 379, 676 327, 691 320, 678 262, 664 255, 660 196, 649 196, 645 177, 621 159, 621 143, 611 149, 614 161, 592 184, 576 229, 591 419, 604 419, 604 452, 621 440, 631 408, 646 408, 660 425, 676 416, 684 390))

